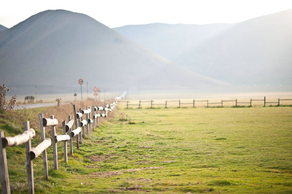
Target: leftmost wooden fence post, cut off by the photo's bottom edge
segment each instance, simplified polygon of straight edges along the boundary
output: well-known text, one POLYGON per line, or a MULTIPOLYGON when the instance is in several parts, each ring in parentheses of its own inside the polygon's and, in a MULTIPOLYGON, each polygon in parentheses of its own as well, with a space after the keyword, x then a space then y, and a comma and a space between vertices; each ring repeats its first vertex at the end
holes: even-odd
POLYGON ((0 178, 2 194, 10 194, 6 149, 2 147, 4 132, 0 131, 0 178))

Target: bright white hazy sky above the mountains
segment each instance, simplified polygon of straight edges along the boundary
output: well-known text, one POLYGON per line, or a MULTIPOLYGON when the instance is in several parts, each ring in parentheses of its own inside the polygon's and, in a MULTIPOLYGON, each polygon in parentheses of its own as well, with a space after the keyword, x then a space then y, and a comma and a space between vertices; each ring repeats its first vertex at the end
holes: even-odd
POLYGON ((65 9, 110 28, 154 22, 234 23, 292 8, 292 0, 1 0, 0 24, 8 28, 38 12, 65 9))

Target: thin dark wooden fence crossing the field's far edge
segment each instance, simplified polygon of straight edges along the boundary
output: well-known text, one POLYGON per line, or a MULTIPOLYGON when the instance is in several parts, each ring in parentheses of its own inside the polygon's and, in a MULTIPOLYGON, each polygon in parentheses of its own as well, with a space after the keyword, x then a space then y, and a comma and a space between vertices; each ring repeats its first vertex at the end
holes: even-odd
POLYGON ((167 103, 170 103, 170 102, 178 102, 178 108, 180 108, 181 107, 181 105, 182 104, 192 104, 193 106, 193 108, 195 108, 196 106, 196 102, 206 102, 206 105, 205 105, 205 107, 210 107, 209 105, 210 104, 218 104, 218 107, 223 107, 223 103, 224 102, 234 102, 234 106, 233 107, 238 107, 238 106, 240 106, 240 105, 242 105, 242 104, 248 104, 248 106, 252 106, 252 102, 253 101, 262 101, 263 102, 263 106, 265 107, 266 106, 266 104, 277 104, 276 106, 280 106, 281 104, 280 104, 280 101, 286 101, 286 100, 291 100, 292 101, 292 99, 280 99, 280 98, 278 98, 278 100, 276 101, 276 102, 270 102, 270 101, 266 101, 266 96, 264 96, 264 98, 263 99, 250 99, 250 101, 249 102, 242 102, 242 101, 237 101, 237 99, 235 99, 235 100, 221 100, 220 102, 209 102, 209 100, 193 100, 192 102, 185 102, 185 103, 182 103, 180 100, 165 100, 165 104, 153 104, 153 100, 149 100, 149 101, 141 101, 141 100, 139 100, 139 104, 129 104, 130 103, 130 101, 119 101, 119 102, 122 102, 122 103, 127 103, 127 109, 129 108, 129 106, 138 106, 138 108, 140 109, 141 108, 141 103, 145 103, 145 102, 150 102, 151 104, 150 104, 150 108, 153 108, 153 106, 155 106, 155 105, 165 105, 165 108, 167 108, 167 103))

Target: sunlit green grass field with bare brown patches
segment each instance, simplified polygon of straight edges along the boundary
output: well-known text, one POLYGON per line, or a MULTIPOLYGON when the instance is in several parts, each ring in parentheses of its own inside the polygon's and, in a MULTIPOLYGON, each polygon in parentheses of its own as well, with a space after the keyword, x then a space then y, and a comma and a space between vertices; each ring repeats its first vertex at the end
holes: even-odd
MULTIPOLYGON (((6 135, 21 126, 0 120, 6 135)), ((13 193, 27 192, 24 150, 7 148, 13 193)), ((292 108, 120 108, 58 156, 49 181, 33 161, 36 193, 292 193, 292 108)))

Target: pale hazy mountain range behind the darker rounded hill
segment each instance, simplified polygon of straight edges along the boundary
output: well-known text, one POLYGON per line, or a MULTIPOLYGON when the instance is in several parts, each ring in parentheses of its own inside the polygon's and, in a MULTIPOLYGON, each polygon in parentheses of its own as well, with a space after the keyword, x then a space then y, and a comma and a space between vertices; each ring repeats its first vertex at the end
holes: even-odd
POLYGON ((191 71, 232 84, 289 84, 292 9, 234 24, 147 24, 115 30, 191 71))

